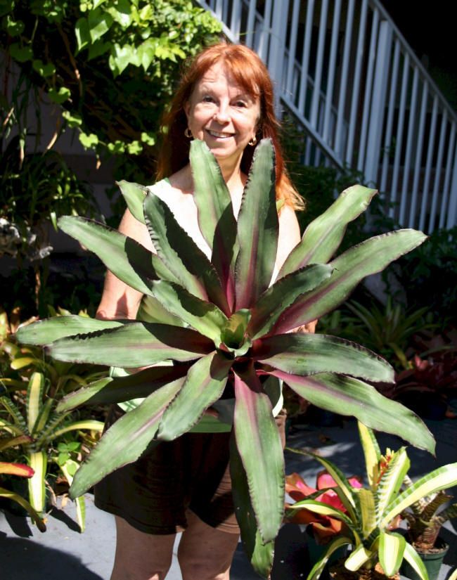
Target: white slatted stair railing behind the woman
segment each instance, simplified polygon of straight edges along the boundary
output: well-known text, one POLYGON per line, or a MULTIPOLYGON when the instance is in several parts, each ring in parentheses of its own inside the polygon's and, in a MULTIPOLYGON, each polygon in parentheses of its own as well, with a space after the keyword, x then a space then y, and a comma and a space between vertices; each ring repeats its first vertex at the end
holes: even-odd
POLYGON ((401 226, 457 226, 457 116, 378 0, 199 0, 269 67, 306 165, 359 170, 401 226))

